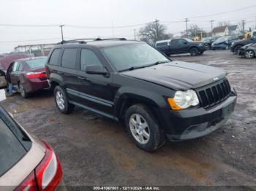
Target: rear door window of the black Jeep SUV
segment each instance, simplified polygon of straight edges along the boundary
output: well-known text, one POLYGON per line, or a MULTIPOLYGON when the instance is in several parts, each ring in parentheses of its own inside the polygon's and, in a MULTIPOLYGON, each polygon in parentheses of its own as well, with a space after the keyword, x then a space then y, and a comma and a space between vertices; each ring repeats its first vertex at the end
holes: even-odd
POLYGON ((61 66, 68 69, 75 69, 77 52, 78 49, 76 48, 65 48, 61 58, 61 66))

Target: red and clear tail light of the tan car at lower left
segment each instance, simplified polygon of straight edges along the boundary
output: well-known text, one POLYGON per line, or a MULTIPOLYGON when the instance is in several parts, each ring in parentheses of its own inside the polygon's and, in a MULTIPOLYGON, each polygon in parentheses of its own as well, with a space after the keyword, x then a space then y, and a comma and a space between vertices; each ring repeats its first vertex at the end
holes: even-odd
MULTIPOLYGON (((45 144, 45 143, 44 143, 45 144)), ((61 164, 56 157, 53 149, 45 144, 46 152, 45 157, 37 165, 33 171, 20 186, 16 189, 19 191, 51 191, 55 190, 62 177, 61 164)))

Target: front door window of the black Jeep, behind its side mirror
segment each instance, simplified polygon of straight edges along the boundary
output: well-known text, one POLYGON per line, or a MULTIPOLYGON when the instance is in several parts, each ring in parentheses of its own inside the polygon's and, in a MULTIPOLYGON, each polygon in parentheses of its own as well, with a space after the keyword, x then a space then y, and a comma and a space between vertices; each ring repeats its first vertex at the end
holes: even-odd
POLYGON ((97 55, 92 50, 82 49, 81 51, 81 70, 85 71, 86 66, 89 65, 100 65, 102 66, 102 63, 99 61, 99 58, 97 58, 97 55))

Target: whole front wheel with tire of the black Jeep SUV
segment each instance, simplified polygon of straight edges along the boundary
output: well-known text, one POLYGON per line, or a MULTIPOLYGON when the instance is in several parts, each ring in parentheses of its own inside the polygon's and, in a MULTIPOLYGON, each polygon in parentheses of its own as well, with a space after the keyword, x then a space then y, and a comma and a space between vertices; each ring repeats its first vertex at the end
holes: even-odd
POLYGON ((140 149, 153 152, 165 144, 165 137, 157 120, 151 110, 143 104, 136 104, 127 109, 125 125, 129 137, 140 149))

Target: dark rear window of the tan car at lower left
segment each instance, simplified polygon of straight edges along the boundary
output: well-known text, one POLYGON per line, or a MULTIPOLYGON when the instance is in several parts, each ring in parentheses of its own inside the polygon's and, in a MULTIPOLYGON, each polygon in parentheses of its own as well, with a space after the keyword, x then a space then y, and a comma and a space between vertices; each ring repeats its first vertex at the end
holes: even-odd
POLYGON ((0 118, 0 176, 26 155, 26 149, 7 124, 0 118))

